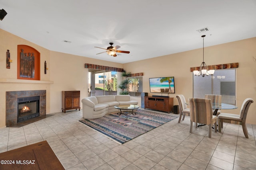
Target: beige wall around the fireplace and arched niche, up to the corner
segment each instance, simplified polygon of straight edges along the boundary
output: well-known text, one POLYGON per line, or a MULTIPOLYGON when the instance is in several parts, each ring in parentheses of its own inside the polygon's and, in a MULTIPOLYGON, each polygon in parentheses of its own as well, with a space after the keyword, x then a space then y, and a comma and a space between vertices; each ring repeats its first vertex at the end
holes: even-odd
POLYGON ((62 111, 62 90, 80 90, 81 98, 86 97, 88 78, 85 63, 123 68, 120 63, 50 51, 2 29, 0 39, 0 128, 6 126, 6 91, 46 90, 46 113, 55 113, 62 111), (17 80, 17 45, 21 44, 29 45, 40 52, 40 81, 17 80), (6 68, 7 49, 10 50, 10 58, 13 60, 10 69, 6 68), (44 74, 44 61, 49 68, 47 74, 44 74))

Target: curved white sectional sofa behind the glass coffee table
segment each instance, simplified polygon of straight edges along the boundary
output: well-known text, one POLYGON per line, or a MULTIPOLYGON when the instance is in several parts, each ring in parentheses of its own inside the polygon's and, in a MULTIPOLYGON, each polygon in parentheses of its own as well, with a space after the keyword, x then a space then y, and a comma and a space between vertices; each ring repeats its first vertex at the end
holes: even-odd
POLYGON ((116 105, 138 104, 138 101, 131 100, 130 95, 109 95, 91 96, 82 99, 83 117, 86 119, 96 119, 104 115, 118 111, 116 105))

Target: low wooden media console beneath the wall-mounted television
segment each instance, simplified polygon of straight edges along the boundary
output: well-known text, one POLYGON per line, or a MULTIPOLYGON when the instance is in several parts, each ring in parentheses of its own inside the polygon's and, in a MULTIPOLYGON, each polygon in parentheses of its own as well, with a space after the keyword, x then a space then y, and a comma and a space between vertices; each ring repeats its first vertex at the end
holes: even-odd
POLYGON ((168 113, 173 112, 173 98, 145 96, 144 104, 145 109, 155 109, 168 113))

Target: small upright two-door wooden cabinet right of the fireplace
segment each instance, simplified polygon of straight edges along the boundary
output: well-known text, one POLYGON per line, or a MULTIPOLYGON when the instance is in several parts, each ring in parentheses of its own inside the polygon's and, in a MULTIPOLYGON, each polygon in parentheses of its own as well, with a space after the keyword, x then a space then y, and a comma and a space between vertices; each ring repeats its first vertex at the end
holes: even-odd
POLYGON ((80 111, 80 91, 62 91, 62 112, 71 109, 80 111))

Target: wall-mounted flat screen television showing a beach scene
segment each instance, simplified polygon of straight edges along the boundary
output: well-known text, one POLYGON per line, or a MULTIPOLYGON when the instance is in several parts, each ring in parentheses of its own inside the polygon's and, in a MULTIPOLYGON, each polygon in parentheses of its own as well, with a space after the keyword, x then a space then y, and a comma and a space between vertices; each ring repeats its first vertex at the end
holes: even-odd
POLYGON ((149 78, 150 93, 175 93, 174 77, 149 78))

